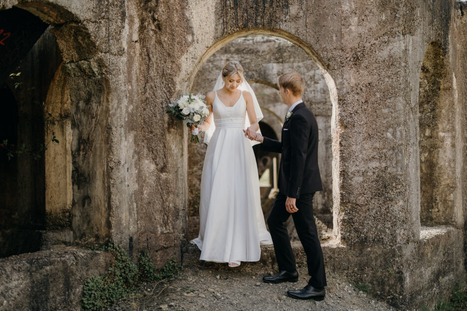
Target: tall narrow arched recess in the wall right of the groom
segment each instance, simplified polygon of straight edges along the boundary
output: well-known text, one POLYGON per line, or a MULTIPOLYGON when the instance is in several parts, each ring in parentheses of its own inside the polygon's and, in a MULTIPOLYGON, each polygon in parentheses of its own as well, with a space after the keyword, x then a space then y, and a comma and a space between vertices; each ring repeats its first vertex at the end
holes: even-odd
POLYGON ((454 224, 456 110, 446 51, 439 41, 425 52, 419 92, 420 222, 454 224))

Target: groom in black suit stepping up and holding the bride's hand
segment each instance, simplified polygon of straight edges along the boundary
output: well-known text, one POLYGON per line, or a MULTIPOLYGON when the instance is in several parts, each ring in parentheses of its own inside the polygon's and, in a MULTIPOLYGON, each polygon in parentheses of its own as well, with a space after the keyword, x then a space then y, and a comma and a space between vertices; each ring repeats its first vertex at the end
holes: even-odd
POLYGON ((284 73, 279 77, 279 94, 289 107, 282 127, 281 142, 246 130, 245 135, 261 143, 261 149, 281 153, 279 193, 267 224, 272 236, 279 273, 263 277, 267 283, 297 282, 290 239, 284 223, 292 214, 295 229, 305 250, 310 280, 305 288, 288 291, 296 299, 321 301, 326 294, 323 253, 313 218, 313 195, 322 190, 318 168, 318 125, 301 97, 305 83, 299 73, 284 73))

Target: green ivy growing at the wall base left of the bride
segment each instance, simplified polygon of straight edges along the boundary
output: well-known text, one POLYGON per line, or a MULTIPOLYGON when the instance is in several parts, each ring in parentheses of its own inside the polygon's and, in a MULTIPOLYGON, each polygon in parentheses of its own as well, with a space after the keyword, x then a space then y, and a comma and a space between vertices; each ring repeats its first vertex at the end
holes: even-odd
POLYGON ((111 252, 115 260, 103 275, 92 276, 84 282, 81 301, 83 311, 105 310, 133 293, 142 282, 160 282, 173 278, 180 272, 180 265, 174 259, 161 270, 157 270, 146 250, 140 252, 136 264, 116 243, 109 242, 99 250, 111 252))

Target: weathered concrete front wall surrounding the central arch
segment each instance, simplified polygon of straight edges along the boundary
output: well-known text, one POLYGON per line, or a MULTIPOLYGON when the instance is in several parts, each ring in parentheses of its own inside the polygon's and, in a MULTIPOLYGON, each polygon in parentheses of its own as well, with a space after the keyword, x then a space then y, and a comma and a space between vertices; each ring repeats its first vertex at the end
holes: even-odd
MULTIPOLYGON (((454 107, 462 113, 455 119, 456 199, 450 209, 454 226, 463 223, 462 4, 19 2, 55 26, 52 33, 69 79, 76 243, 112 238, 130 253, 149 248, 158 266, 180 255, 186 242, 188 137, 165 108, 191 89, 203 63, 222 46, 248 34, 267 34, 301 47, 321 69, 329 90, 335 234, 329 243, 337 252, 327 257, 329 264, 407 308, 438 298, 435 293, 411 301, 427 288, 425 281, 448 291, 464 277, 426 259, 440 252, 459 256, 461 245, 456 228, 440 234, 444 242, 435 238, 436 247, 424 240, 419 173, 421 66, 427 47, 438 40, 451 63, 446 68, 452 70, 447 77, 455 92, 454 107), (420 264, 412 260, 417 254, 425 256, 420 264), (423 270, 423 280, 411 278, 423 270)), ((16 3, 2 0, 0 8, 16 3)), ((451 270, 460 271, 463 260, 453 260, 451 270)))

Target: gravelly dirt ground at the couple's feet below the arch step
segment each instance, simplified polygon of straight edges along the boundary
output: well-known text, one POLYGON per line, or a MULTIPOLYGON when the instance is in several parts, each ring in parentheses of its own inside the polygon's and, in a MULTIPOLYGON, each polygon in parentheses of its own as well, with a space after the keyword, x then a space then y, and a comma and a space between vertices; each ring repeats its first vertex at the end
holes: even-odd
POLYGON ((144 284, 109 310, 397 311, 332 274, 327 276, 324 301, 292 299, 286 291, 303 288, 308 280, 305 269, 299 268, 298 272, 298 283, 266 284, 261 280, 263 274, 190 266, 172 280, 144 284))

